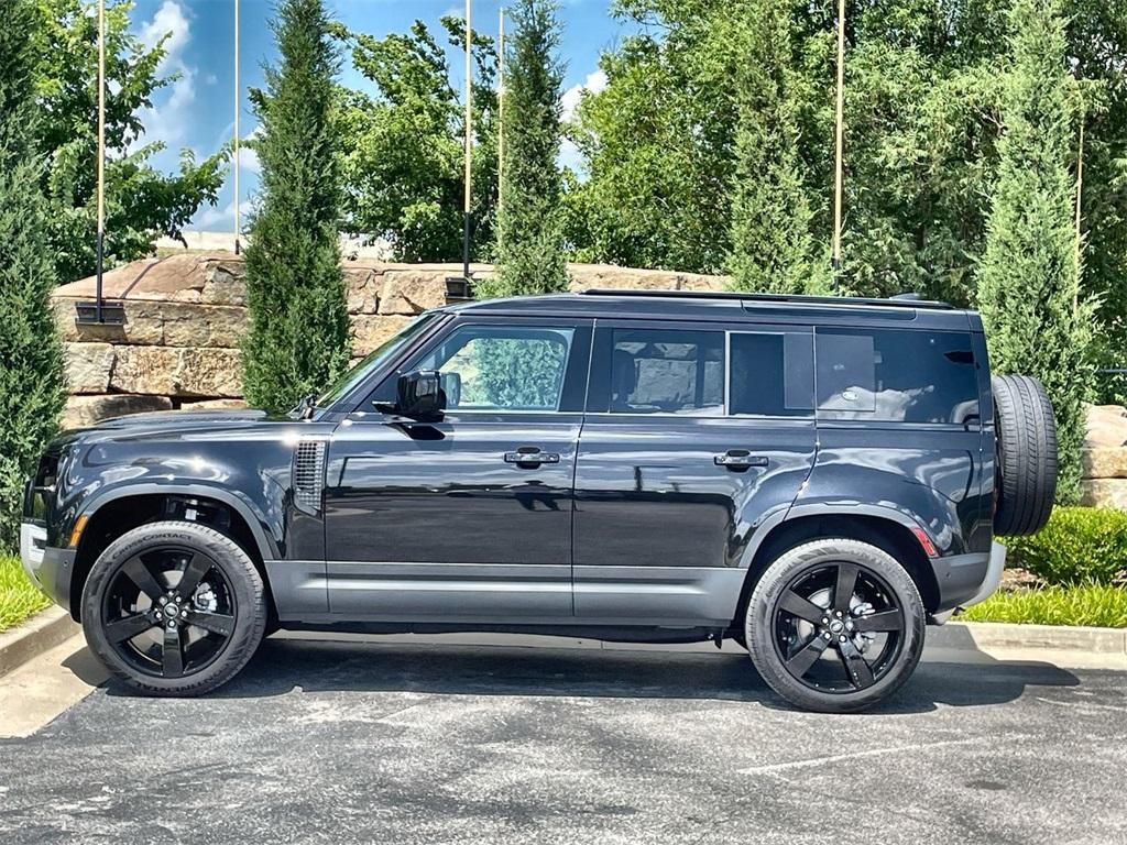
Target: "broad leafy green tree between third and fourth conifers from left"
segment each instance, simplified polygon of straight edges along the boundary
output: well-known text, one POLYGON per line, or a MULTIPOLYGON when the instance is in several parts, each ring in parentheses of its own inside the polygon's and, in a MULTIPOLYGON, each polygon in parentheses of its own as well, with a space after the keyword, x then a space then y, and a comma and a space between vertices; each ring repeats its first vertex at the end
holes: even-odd
POLYGON ((606 88, 584 97, 567 134, 584 159, 569 177, 565 233, 583 261, 715 272, 730 252, 743 60, 739 5, 620 0, 639 27, 604 53, 606 88))

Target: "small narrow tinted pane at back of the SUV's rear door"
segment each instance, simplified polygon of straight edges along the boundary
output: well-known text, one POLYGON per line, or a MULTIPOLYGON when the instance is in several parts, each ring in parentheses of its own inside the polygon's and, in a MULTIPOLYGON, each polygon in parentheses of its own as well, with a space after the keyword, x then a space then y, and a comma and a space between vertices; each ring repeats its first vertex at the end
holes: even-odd
POLYGON ((809 333, 731 335, 733 413, 807 416, 814 409, 814 339, 809 333))

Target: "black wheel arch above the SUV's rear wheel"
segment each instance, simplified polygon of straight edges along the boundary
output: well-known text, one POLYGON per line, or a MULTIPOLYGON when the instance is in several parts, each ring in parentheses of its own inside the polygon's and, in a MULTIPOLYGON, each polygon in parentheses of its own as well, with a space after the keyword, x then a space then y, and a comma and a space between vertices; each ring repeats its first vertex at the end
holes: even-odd
POLYGON ((743 626, 743 616, 752 592, 772 561, 795 546, 827 537, 858 540, 888 552, 912 577, 924 607, 929 612, 934 611, 940 601, 939 582, 929 557, 914 533, 916 530, 921 530, 921 526, 908 516, 879 506, 841 509, 822 505, 798 506, 787 514, 778 515, 757 532, 757 539, 753 540, 745 553, 747 575, 733 625, 743 626))

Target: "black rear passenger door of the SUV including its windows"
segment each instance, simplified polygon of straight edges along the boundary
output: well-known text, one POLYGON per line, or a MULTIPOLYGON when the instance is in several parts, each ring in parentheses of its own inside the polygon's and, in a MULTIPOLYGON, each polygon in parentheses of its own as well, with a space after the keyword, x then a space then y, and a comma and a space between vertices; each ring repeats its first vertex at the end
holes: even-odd
POLYGON ((809 327, 604 321, 576 462, 575 612, 727 624, 815 453, 809 327))

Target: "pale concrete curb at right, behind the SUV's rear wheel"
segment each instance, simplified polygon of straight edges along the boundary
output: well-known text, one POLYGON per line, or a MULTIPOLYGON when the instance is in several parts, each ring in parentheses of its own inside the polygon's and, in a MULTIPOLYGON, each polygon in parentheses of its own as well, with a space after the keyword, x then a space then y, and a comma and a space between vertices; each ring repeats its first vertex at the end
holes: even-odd
POLYGON ((953 650, 1044 649, 1127 656, 1127 629, 949 622, 928 629, 928 644, 953 650))

